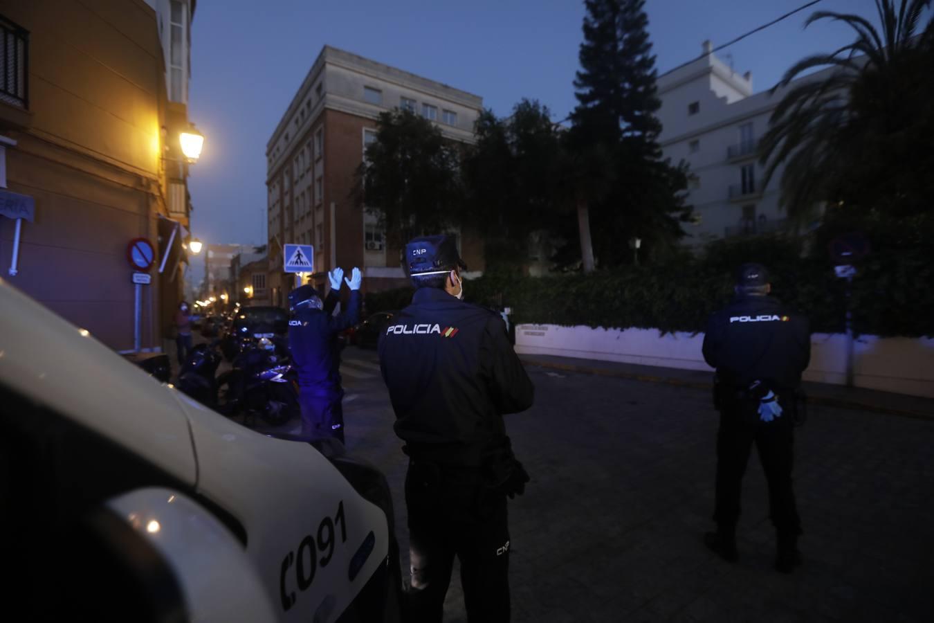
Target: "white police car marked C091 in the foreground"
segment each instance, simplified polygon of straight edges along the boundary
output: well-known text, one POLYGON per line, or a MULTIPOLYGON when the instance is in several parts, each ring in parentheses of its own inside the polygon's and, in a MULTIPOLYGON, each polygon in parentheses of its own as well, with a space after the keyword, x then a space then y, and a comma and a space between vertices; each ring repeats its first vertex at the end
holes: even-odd
POLYGON ((382 474, 221 417, 2 279, 0 310, 0 616, 397 620, 382 474))

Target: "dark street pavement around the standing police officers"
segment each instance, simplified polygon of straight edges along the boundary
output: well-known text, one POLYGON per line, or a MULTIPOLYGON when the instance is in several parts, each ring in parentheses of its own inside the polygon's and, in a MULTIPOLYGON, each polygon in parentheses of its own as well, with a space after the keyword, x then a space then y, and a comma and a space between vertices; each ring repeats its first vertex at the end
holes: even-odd
MULTIPOLYGON (((348 449, 389 477, 405 570, 406 462, 388 394, 372 350, 348 348, 344 361, 348 449)), ((506 418, 532 477, 510 503, 513 621, 934 620, 934 421, 812 410, 796 437, 804 566, 782 575, 755 457, 740 562, 702 544, 713 527, 709 391, 528 370, 535 406, 506 418)), ((457 573, 445 620, 466 621, 457 573)))

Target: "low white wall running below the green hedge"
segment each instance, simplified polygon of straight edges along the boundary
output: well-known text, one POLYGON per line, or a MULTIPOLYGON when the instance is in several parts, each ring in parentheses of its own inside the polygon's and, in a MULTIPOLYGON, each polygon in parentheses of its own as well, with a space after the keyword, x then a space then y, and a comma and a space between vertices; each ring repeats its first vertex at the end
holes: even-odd
MULTIPOLYGON (((846 335, 814 333, 811 365, 804 378, 846 382, 846 335)), ((710 370, 703 361, 703 333, 658 333, 655 329, 591 329, 554 324, 520 324, 516 351, 601 361, 622 361, 686 370, 710 370)), ((854 345, 854 384, 934 398, 934 339, 863 335, 854 345)))

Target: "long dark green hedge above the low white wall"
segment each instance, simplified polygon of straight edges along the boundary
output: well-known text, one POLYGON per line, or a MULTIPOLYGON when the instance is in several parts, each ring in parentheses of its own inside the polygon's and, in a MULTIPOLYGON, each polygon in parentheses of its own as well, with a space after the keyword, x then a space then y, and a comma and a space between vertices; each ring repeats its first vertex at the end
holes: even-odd
MULTIPOLYGON (((732 298, 734 271, 755 258, 771 273, 772 293, 811 319, 815 333, 842 333, 846 284, 826 260, 801 259, 782 240, 713 245, 702 259, 628 266, 590 275, 516 276, 490 271, 467 280, 468 301, 513 308, 516 323, 587 325, 662 332, 703 331, 708 315, 732 298), (745 245, 745 247, 744 247, 745 245)), ((856 333, 934 335, 934 266, 924 251, 885 250, 858 266, 850 303, 856 333)), ((412 290, 368 294, 367 311, 400 309, 412 290)))

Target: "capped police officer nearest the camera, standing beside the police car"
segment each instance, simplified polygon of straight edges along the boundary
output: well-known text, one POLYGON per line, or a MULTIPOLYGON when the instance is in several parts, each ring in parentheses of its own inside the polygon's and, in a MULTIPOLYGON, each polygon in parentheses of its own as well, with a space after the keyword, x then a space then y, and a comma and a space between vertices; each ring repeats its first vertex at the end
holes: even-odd
POLYGON ((395 432, 409 456, 404 620, 441 621, 457 556, 468 619, 508 621, 506 497, 521 494, 529 476, 502 415, 531 406, 531 381, 502 319, 461 300, 466 265, 453 237, 413 239, 405 265, 416 292, 379 343, 395 432))

